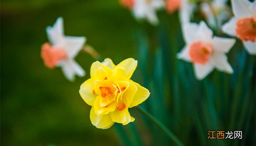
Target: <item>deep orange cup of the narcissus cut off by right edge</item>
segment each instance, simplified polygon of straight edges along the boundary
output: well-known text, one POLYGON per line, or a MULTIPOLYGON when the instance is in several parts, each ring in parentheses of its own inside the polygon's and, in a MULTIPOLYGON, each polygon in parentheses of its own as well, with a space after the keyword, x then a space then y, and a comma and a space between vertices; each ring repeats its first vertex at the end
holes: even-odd
POLYGON ((255 42, 256 40, 256 18, 241 18, 236 23, 237 37, 242 41, 255 42))

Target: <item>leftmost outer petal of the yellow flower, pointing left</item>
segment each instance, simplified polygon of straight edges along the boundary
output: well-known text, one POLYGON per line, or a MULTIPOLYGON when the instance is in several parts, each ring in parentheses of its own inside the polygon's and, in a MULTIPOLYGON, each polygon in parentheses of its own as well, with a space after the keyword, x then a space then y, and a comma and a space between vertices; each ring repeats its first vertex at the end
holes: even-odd
POLYGON ((80 96, 88 104, 93 106, 94 101, 96 100, 97 95, 93 93, 93 82, 89 78, 80 86, 79 90, 80 96))

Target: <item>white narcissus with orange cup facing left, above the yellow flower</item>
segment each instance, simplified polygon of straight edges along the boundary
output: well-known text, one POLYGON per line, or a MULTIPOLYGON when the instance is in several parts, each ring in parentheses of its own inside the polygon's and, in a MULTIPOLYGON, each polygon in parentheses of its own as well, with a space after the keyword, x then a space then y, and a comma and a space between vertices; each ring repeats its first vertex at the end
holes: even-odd
POLYGON ((42 45, 41 57, 48 68, 61 67, 68 80, 74 80, 75 75, 85 75, 83 68, 74 60, 83 48, 85 37, 64 36, 63 18, 58 18, 56 23, 46 28, 50 43, 42 45))

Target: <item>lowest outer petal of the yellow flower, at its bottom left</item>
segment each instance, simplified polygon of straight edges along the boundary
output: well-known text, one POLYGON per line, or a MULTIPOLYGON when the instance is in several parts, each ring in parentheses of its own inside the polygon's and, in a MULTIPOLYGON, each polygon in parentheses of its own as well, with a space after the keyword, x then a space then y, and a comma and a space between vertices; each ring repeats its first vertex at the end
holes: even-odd
POLYGON ((114 124, 114 122, 112 122, 112 120, 108 114, 101 115, 101 116, 97 115, 94 112, 94 107, 91 107, 90 120, 91 120, 91 123, 95 127, 100 128, 100 129, 110 128, 114 124))

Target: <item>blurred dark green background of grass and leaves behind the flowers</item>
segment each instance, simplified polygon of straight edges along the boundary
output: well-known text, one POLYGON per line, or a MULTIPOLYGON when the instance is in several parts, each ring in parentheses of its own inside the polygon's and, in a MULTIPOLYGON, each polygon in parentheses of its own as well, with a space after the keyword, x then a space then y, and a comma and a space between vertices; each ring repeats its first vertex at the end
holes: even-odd
POLYGON ((132 80, 151 92, 143 107, 185 145, 255 145, 255 57, 237 41, 229 53, 234 74, 215 70, 197 81, 192 65, 175 57, 184 45, 177 12, 158 15, 153 27, 138 23, 118 0, 2 0, 1 145, 173 144, 136 109, 129 110, 135 122, 127 126, 91 124, 78 91, 95 59, 80 53, 76 61, 87 74, 69 82, 40 57, 45 28, 59 16, 66 35, 87 37, 102 58, 138 59, 132 80), (207 130, 243 131, 243 139, 207 139, 207 130))

